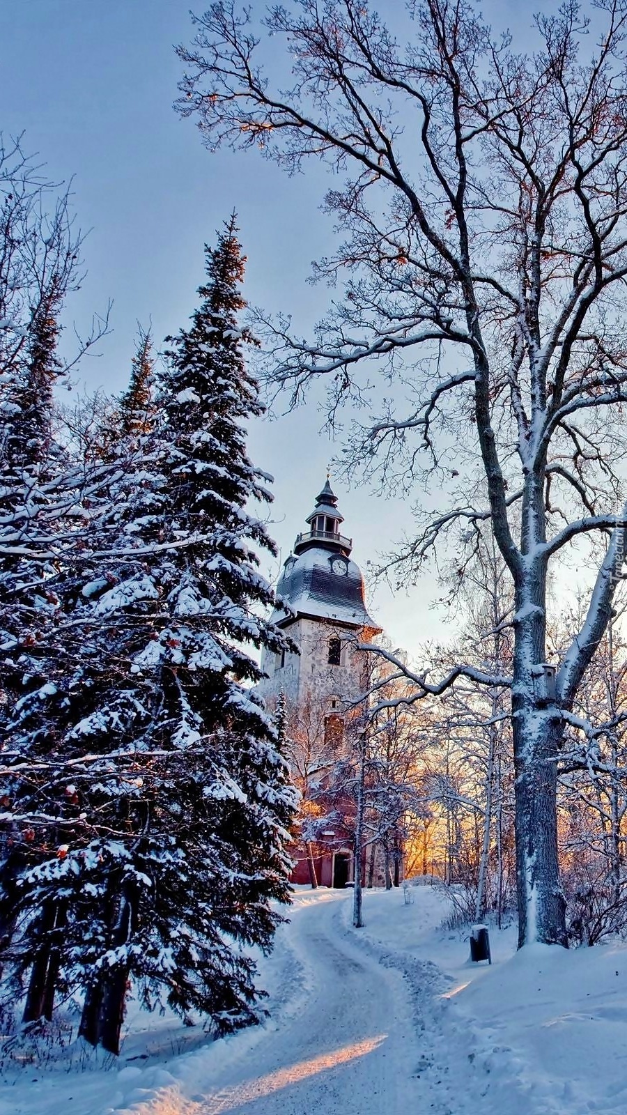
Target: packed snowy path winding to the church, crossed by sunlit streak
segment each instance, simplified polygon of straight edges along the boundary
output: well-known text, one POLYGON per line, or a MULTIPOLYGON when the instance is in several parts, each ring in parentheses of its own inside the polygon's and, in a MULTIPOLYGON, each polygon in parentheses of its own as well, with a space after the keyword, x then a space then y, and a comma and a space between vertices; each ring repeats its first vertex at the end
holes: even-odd
MULTIPOLYGON (((245 1055, 222 1069, 215 1066, 206 1079, 194 1074, 193 1095, 182 1087, 182 1102, 173 1103, 172 1112, 394 1115, 407 1104, 419 1109, 414 1106, 418 1043, 403 977, 351 942, 341 924, 349 900, 327 892, 292 911, 282 948, 289 942, 300 973, 298 1000, 287 1000, 276 1028, 245 1055)), ((154 1111, 161 1115, 163 1103, 154 1111)))

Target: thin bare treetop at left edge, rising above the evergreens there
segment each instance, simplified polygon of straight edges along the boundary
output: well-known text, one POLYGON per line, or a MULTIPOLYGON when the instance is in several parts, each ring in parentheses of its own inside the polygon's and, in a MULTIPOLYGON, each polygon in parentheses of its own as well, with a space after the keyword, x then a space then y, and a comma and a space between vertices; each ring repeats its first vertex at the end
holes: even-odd
POLYGON ((0 134, 0 556, 8 562, 55 561, 67 535, 62 516, 94 488, 85 462, 61 469, 52 406, 59 379, 108 330, 109 308, 87 336, 76 334, 73 353, 59 352, 60 316, 84 279, 83 239, 70 188, 45 175, 21 137, 0 134))

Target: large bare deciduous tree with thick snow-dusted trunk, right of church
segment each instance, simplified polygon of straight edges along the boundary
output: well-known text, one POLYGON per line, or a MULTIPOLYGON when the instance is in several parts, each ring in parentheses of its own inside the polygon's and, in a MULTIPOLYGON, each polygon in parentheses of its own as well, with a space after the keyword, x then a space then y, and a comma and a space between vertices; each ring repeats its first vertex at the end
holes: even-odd
MULTIPOLYGON (((271 6, 259 30, 228 0, 180 48, 180 107, 210 148, 260 146, 288 171, 318 157, 345 176, 326 198, 344 243, 318 269, 344 298, 310 342, 276 321, 273 359, 296 397, 325 377, 331 413, 375 406, 368 370, 399 385, 348 446, 367 475, 450 496, 399 572, 415 578, 443 544, 472 549, 491 522, 515 598, 520 943, 566 940, 556 756, 625 550, 627 13, 592 11, 594 26, 577 0, 539 16, 523 55, 466 0, 415 0, 408 26, 394 17, 398 40, 366 0, 271 6), (272 58, 284 41, 291 79, 263 71, 266 36, 272 58), (599 533, 589 608, 546 700, 547 576, 599 533)), ((448 680, 417 678, 416 692, 448 680)))

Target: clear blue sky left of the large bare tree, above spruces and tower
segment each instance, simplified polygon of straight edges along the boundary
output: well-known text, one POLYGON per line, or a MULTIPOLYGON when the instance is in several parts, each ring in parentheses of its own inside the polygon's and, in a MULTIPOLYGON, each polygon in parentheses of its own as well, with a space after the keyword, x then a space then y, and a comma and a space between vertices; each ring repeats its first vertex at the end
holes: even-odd
MULTIPOLYGON (((25 132, 25 147, 39 153, 51 176, 74 175, 77 221, 90 230, 87 279, 70 317, 85 329, 94 311, 114 301, 102 356, 80 370, 89 388, 124 388, 137 320, 152 320, 157 346, 186 322, 203 278, 203 242, 233 209, 249 256, 249 301, 292 313, 299 331, 326 304, 327 292, 307 283, 311 260, 332 243, 319 211, 322 171, 311 164, 306 175, 288 178, 260 156, 210 155, 194 124, 172 109, 181 75, 173 45, 191 38, 190 7, 190 0, 0 0, 0 127, 25 132)), ((320 425, 310 401, 251 430, 253 460, 276 476, 271 533, 283 559, 337 448, 318 434, 320 425)), ((367 561, 409 526, 407 507, 337 487, 345 533, 367 572, 367 561)), ((411 603, 382 588, 372 610, 395 644, 413 650, 438 634, 428 607, 436 594, 428 578, 411 603)))

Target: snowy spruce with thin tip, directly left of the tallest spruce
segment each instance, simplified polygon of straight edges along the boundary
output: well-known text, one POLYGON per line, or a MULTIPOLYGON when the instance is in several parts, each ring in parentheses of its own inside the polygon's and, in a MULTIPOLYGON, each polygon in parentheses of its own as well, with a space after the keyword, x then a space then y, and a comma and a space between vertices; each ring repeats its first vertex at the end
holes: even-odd
MULTIPOLYGON (((154 489, 162 477, 149 472, 155 456, 151 435, 156 426, 152 368, 151 339, 141 330, 129 386, 120 399, 116 403, 95 399, 93 406, 85 400, 83 407, 68 416, 68 456, 70 450, 74 454, 70 487, 71 469, 76 474, 83 472, 87 483, 83 487, 78 483, 75 495, 81 505, 78 518, 83 515, 85 522, 80 529, 69 531, 69 543, 59 552, 55 629, 47 630, 42 639, 49 644, 51 660, 48 683, 28 687, 7 724, 18 768, 27 763, 25 776, 12 779, 10 801, 13 818, 20 818, 29 847, 28 855, 22 855, 22 878, 17 891, 13 889, 12 915, 21 922, 21 933, 9 952, 12 962, 6 985, 6 993, 15 998, 27 979, 25 1021, 41 1015, 51 1017, 56 990, 60 987, 66 991, 69 986, 68 944, 89 940, 94 924, 99 924, 103 902, 107 903, 109 917, 113 909, 110 889, 100 895, 88 889, 90 901, 85 902, 76 878, 70 875, 62 888, 50 888, 41 885, 38 869, 47 864, 49 874, 50 854, 62 862, 70 844, 75 852, 81 851, 86 863, 93 864, 91 813, 103 812, 113 792, 117 798, 113 818, 119 825, 125 820, 120 786, 134 786, 137 780, 128 778, 122 763, 120 778, 107 785, 106 776, 117 760, 115 755, 107 754, 106 747, 91 756, 88 773, 79 764, 78 788, 73 784, 73 772, 84 749, 83 734, 75 730, 77 718, 80 721, 86 710, 94 709, 104 691, 123 686, 122 699, 114 704, 113 710, 119 728, 137 733, 147 723, 145 712, 141 716, 141 695, 137 698, 124 689, 124 669, 120 670, 115 658, 123 643, 116 643, 103 615, 89 615, 88 601, 123 575, 117 554, 128 544, 125 529, 131 529, 135 516, 155 510, 154 489), (96 576, 89 564, 94 550, 100 552, 100 560, 106 555, 109 564, 99 580, 86 585, 86 575, 96 576), (99 785, 103 774, 105 780, 99 785), (96 785, 95 792, 91 784, 96 785), (80 811, 76 808, 79 802, 80 811)), ((68 527, 70 523, 66 524, 68 527)), ((127 564, 126 571, 131 568, 127 564)), ((110 826, 110 812, 104 821, 110 826)), ((106 873, 110 855, 104 854, 103 847, 98 855, 95 862, 105 864, 106 873)), ((70 861, 70 872, 74 866, 75 860, 70 861)))

